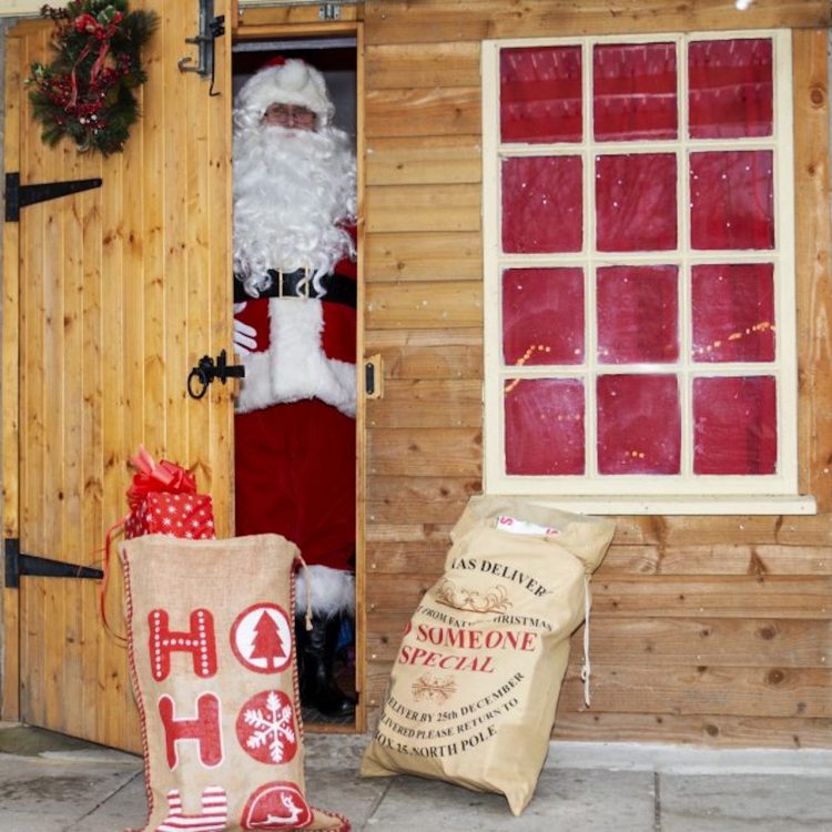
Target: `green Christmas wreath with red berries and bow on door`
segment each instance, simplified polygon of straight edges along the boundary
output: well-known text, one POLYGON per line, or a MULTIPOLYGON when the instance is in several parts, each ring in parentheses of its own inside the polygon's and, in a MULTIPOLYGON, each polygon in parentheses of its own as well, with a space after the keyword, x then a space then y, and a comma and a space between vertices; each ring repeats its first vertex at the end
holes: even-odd
POLYGON ((128 11, 126 0, 73 0, 65 9, 44 6, 55 23, 49 64, 32 63, 27 83, 41 138, 64 135, 80 151, 109 155, 124 148, 139 118, 134 90, 146 80, 141 48, 159 22, 152 11, 128 11))

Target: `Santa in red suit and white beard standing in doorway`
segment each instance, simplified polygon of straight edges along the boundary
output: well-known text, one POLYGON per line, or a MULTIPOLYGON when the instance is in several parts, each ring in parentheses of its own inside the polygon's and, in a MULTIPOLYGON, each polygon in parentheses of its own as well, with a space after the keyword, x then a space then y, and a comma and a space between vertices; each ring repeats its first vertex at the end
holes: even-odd
POLYGON ((237 535, 281 534, 310 565, 296 588, 302 703, 348 717, 333 657, 355 608, 356 164, 334 110, 296 59, 235 100, 235 494, 237 535))

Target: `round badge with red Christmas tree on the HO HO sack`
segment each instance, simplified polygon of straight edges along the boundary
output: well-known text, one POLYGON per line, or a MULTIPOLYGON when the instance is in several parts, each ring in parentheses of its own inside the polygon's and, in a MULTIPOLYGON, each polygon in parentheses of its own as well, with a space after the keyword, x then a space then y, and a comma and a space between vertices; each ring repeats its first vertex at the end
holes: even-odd
POLYGON ((253 603, 234 619, 231 649, 255 673, 280 673, 292 661, 292 627, 283 607, 253 603))

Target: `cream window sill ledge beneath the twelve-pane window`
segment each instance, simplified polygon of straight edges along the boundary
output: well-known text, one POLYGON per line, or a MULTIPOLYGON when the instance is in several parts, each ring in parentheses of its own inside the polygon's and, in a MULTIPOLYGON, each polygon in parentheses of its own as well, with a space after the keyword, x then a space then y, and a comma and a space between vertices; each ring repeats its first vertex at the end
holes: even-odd
POLYGON ((586 515, 814 515, 818 505, 808 495, 719 497, 527 497, 535 503, 586 515))

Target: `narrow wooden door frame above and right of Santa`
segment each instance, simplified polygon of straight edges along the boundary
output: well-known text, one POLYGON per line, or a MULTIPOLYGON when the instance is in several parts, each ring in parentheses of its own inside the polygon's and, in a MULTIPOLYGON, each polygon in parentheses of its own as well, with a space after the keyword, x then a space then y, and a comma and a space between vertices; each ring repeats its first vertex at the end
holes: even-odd
MULTIPOLYGON (((355 37, 355 123, 356 123, 356 161, 357 161, 357 214, 356 223, 356 248, 357 248, 357 300, 356 300, 356 504, 355 504, 355 687, 358 694, 358 704, 355 711, 355 732, 364 733, 367 730, 367 703, 363 696, 366 688, 366 569, 365 569, 365 536, 366 527, 366 398, 364 387, 361 384, 363 373, 358 372, 364 364, 364 246, 365 246, 365 105, 364 105, 364 23, 361 19, 362 10, 356 7, 346 7, 344 11, 351 12, 354 19, 321 22, 312 17, 317 16, 317 7, 273 7, 256 8, 251 10, 240 9, 235 11, 232 2, 232 16, 234 18, 232 30, 234 41, 265 40, 267 38, 327 38, 334 34, 355 37), (301 22, 294 22, 297 19, 301 22), (307 19, 308 18, 308 19, 307 19), (293 21, 293 22, 288 22, 293 21)), ((233 44, 232 44, 233 47, 233 44)), ((232 49, 233 63, 233 49, 232 49)), ((233 71, 233 68, 232 68, 233 71)), ((315 726, 315 730, 339 731, 341 727, 315 726)))

